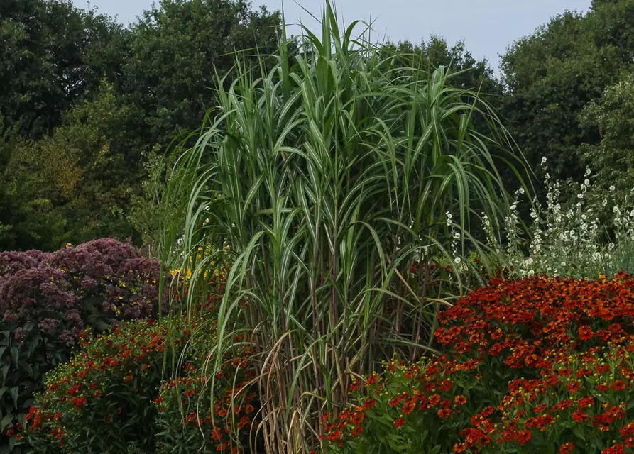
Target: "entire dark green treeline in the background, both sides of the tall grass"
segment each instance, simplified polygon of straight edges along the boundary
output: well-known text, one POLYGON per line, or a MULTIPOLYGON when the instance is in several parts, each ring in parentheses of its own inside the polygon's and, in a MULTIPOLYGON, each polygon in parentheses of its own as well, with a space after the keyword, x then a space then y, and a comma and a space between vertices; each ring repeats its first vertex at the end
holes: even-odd
MULTIPOLYGON (((234 50, 245 65, 273 52, 280 21, 246 0, 163 0, 128 27, 66 0, 0 1, 0 250, 148 241, 170 144, 213 109, 234 50)), ((489 95, 533 170, 547 157, 557 179, 589 165, 634 187, 634 0, 552 18, 510 45, 499 77, 442 38, 386 52, 473 68, 454 84, 489 95)))

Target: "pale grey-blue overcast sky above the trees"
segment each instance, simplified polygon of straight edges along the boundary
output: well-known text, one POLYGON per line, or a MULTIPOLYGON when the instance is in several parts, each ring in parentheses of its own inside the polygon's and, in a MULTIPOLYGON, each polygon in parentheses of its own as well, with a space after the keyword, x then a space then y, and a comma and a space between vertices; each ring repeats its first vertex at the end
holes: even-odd
MULTIPOLYGON (((1 1, 1 0, 0 0, 1 1)), ((73 0, 77 6, 96 6, 116 15, 120 22, 136 20, 153 0, 73 0)), ((486 57, 494 69, 498 55, 511 43, 532 33, 537 26, 565 10, 586 11, 591 0, 338 0, 337 12, 345 23, 355 19, 374 21, 374 30, 393 41, 420 42, 441 35, 450 44, 464 40, 476 58, 486 57)), ((158 1, 157 1, 158 3, 158 1)), ((268 9, 280 9, 282 0, 254 0, 268 9)), ((322 0, 285 0, 287 23, 314 25, 300 5, 319 16, 322 0)), ((296 30, 296 29, 295 29, 296 30)), ((293 28, 291 28, 293 31, 293 28)))

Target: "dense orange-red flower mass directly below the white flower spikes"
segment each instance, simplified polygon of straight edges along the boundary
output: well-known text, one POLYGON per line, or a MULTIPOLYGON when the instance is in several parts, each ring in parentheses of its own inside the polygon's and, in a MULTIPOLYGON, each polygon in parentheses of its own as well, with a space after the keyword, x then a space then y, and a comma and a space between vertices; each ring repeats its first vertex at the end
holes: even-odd
POLYGON ((514 369, 550 367, 549 354, 634 333, 634 277, 596 281, 496 278, 439 314, 439 343, 461 360, 500 357, 514 369))

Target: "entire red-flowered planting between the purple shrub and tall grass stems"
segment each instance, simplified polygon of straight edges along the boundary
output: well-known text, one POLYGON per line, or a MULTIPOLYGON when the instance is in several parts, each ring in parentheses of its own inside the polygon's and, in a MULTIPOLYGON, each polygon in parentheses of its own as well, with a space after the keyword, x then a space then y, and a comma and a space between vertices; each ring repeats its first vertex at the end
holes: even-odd
POLYGON ((49 372, 26 417, 28 445, 42 453, 242 452, 257 408, 244 334, 235 334, 222 372, 206 375, 224 276, 209 279, 192 316, 123 323, 84 339, 82 353, 49 372))

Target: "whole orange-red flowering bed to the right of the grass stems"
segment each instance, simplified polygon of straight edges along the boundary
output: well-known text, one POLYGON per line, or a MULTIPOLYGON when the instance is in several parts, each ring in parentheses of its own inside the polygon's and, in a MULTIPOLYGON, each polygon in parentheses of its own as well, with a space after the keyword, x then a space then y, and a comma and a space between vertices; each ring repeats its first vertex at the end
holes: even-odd
POLYGON ((617 434, 634 417, 634 394, 623 394, 630 385, 621 389, 634 377, 634 277, 496 278, 439 321, 444 355, 395 359, 383 375, 355 382, 356 405, 324 416, 326 452, 550 452, 554 442, 562 452, 572 452, 566 442, 581 452, 622 452, 609 450, 613 440, 629 449, 629 429, 617 434), (580 428, 572 413, 590 396, 583 402, 591 418, 580 428), (563 414, 569 400, 576 407, 563 414), (531 436, 535 444, 522 448, 531 436))

